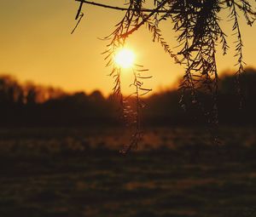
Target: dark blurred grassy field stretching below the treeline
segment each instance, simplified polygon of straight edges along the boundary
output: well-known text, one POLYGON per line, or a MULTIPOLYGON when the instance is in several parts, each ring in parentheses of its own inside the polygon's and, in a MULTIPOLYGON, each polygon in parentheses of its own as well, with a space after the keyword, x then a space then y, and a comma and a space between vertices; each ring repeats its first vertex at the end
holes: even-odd
POLYGON ((117 128, 0 130, 1 217, 252 217, 256 128, 148 128, 137 151, 117 128))

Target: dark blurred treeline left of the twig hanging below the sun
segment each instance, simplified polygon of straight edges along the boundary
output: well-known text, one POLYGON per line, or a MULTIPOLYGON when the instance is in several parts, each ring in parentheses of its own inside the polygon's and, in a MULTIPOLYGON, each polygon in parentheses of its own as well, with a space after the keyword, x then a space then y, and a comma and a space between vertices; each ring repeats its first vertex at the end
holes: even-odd
POLYGON ((118 123, 114 103, 100 91, 67 94, 61 89, 0 77, 0 126, 118 123))

